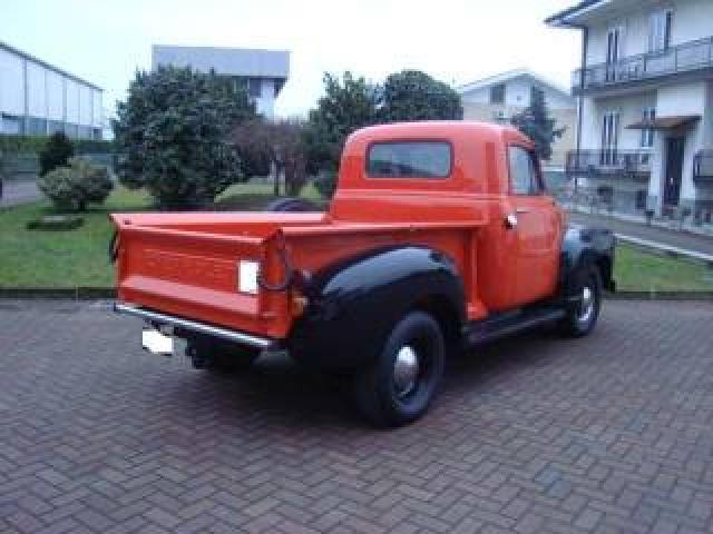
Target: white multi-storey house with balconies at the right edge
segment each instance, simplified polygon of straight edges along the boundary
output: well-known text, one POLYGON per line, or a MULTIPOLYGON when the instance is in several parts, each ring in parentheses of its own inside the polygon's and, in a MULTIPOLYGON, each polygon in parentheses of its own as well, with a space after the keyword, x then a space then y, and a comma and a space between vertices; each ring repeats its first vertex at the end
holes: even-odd
POLYGON ((587 0, 546 22, 583 33, 568 172, 616 210, 711 222, 713 1, 587 0))

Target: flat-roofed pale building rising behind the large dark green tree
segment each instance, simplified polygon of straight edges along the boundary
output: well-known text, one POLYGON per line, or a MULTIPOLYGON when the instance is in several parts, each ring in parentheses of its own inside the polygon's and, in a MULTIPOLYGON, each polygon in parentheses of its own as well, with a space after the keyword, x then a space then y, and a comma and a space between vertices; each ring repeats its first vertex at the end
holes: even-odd
POLYGON ((255 110, 266 118, 275 115, 275 99, 290 76, 290 52, 247 48, 174 47, 154 44, 152 66, 191 67, 229 77, 247 89, 255 110))

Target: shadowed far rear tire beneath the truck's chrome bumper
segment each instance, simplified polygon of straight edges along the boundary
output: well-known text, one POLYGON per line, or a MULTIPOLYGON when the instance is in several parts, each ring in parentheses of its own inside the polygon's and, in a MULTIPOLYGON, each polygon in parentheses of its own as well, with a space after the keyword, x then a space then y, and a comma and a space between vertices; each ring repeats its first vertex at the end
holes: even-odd
POLYGON ((223 339, 194 337, 188 339, 186 356, 196 369, 226 373, 251 368, 260 352, 223 339))

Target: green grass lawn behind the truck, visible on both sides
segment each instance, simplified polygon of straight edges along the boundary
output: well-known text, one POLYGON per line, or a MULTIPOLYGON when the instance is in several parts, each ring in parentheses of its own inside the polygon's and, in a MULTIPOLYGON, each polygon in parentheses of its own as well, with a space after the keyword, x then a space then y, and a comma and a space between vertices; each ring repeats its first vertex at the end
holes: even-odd
MULTIPOLYGON (((303 191, 320 200, 310 186, 303 191)), ((275 197, 270 184, 241 184, 223 192, 216 209, 261 209, 275 197)), ((114 270, 107 257, 113 211, 150 209, 144 192, 117 188, 105 206, 84 214, 81 228, 68 231, 27 230, 27 221, 51 214, 48 202, 0 209, 0 287, 75 288, 110 287, 114 270)), ((713 291, 713 269, 700 263, 675 259, 621 245, 615 277, 622 290, 713 291)))

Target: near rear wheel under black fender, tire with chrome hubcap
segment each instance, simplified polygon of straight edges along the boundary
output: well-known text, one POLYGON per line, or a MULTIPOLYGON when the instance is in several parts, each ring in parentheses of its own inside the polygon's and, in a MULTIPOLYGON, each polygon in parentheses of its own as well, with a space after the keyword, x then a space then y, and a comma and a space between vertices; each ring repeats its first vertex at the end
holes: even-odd
POLYGON ((418 419, 438 392, 445 358, 443 335, 436 319, 423 312, 411 312, 393 327, 381 354, 354 376, 360 411, 380 427, 418 419), (413 357, 416 370, 409 365, 413 357), (397 368, 399 362, 406 362, 407 367, 400 367, 402 373, 397 368))

